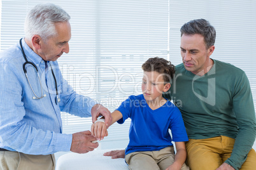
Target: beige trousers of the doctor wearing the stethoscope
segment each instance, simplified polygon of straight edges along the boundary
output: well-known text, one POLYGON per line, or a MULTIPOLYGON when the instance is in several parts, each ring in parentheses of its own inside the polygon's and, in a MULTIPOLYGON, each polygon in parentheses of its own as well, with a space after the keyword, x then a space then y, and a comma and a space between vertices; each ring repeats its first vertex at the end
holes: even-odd
POLYGON ((0 151, 0 170, 54 170, 52 155, 27 155, 20 152, 0 151))

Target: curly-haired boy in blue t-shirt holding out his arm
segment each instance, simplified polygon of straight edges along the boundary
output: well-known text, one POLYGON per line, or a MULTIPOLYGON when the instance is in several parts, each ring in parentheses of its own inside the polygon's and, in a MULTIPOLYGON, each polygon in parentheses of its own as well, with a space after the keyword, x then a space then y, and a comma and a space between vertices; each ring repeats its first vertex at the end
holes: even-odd
MULTIPOLYGON (((187 133, 180 110, 162 97, 171 87, 174 65, 164 58, 149 58, 142 65, 144 71, 141 89, 143 94, 129 96, 111 116, 114 122, 124 123, 131 118, 129 144, 125 161, 129 169, 189 169, 184 141, 187 133), (172 139, 176 145, 174 155, 172 139)), ((103 119, 92 124, 92 135, 103 140, 107 135, 103 119)))

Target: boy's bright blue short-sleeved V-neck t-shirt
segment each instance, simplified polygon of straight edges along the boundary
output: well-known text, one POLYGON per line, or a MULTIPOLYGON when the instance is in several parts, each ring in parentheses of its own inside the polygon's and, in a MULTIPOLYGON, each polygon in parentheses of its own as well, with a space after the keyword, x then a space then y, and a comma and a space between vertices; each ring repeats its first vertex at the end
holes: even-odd
POLYGON ((173 146, 169 129, 173 141, 188 141, 180 110, 171 101, 167 100, 162 107, 152 110, 143 95, 132 95, 123 101, 117 110, 123 115, 122 119, 117 121, 119 124, 131 118, 130 141, 125 155, 173 146))

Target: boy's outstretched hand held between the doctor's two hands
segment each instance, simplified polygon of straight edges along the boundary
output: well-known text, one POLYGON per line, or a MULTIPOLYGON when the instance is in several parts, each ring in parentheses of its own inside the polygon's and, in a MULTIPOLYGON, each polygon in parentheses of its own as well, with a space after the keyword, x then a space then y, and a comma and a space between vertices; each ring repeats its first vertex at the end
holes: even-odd
POLYGON ((95 122, 90 129, 92 136, 95 136, 97 140, 103 140, 105 136, 108 136, 106 124, 104 122, 95 122))

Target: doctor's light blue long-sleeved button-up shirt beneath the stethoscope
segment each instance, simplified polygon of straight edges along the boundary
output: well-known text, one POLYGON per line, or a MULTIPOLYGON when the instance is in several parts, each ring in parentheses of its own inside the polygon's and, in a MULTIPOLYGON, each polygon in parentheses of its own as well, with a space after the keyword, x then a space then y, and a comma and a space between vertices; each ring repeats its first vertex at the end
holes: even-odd
MULTIPOLYGON (((71 148, 72 134, 62 133, 60 111, 80 117, 90 117, 96 101, 78 95, 63 79, 56 62, 45 62, 22 39, 27 60, 38 68, 42 84, 41 99, 34 94, 25 77, 25 62, 17 43, 0 53, 0 148, 32 155, 66 152, 71 148), (52 66, 52 67, 51 67, 52 66), (56 105, 55 81, 60 103, 56 105)), ((37 96, 41 96, 38 75, 32 65, 25 65, 27 77, 37 96)))

